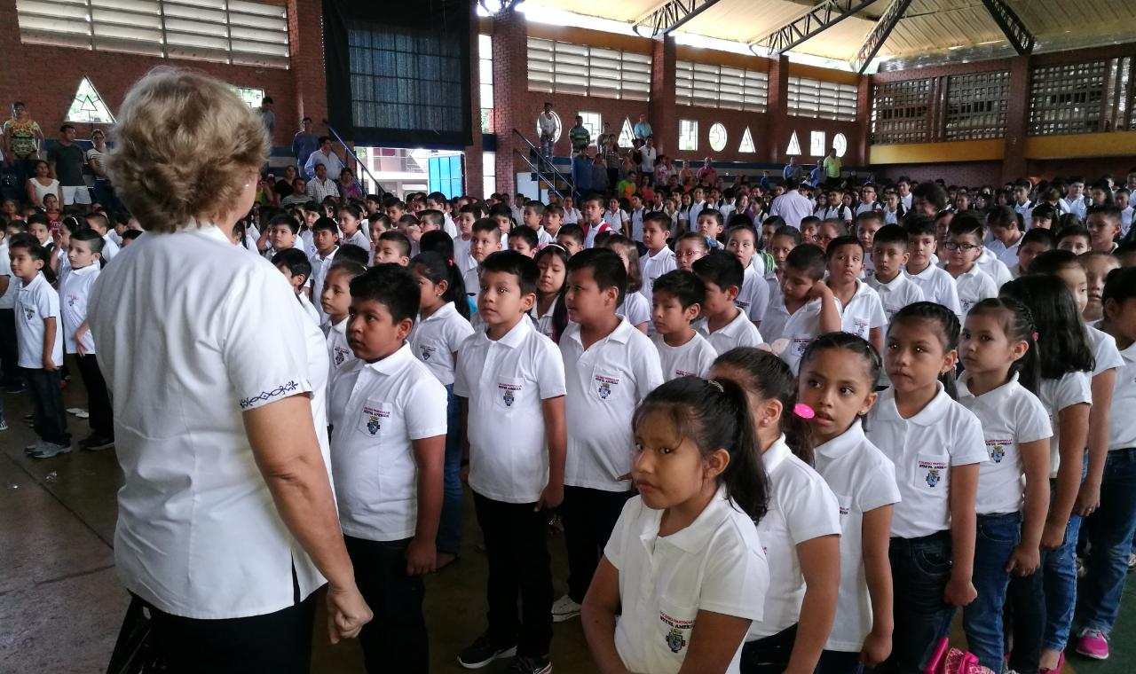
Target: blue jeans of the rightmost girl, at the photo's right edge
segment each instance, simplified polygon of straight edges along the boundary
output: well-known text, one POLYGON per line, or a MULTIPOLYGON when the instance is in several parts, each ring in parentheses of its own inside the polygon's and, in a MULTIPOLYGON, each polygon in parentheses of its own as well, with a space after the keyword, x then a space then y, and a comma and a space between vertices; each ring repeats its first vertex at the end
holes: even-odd
POLYGON ((1136 532, 1136 448, 1109 452, 1101 480, 1101 507, 1081 588, 1083 623, 1105 634, 1120 610, 1128 554, 1136 532))

